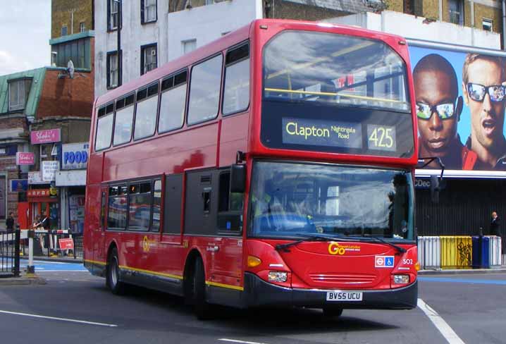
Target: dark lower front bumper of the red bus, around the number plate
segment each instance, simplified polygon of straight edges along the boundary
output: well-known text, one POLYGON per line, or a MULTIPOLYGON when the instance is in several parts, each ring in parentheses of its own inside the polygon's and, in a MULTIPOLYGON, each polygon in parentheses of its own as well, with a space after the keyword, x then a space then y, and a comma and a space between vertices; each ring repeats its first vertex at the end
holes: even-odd
POLYGON ((327 301, 333 290, 284 288, 245 273, 243 302, 247 307, 335 307, 362 309, 413 309, 418 299, 418 282, 388 290, 342 290, 362 292, 361 301, 327 301))

